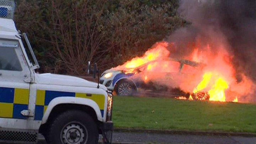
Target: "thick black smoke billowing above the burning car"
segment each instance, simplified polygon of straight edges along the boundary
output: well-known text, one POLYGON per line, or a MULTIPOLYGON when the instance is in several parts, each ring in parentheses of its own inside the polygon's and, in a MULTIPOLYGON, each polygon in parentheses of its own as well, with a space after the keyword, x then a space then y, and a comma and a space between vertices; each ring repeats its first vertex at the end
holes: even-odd
POLYGON ((241 73, 256 81, 256 0, 180 0, 178 12, 189 24, 166 39, 175 43, 172 57, 189 55, 198 39, 222 43, 234 55, 238 82, 241 73))

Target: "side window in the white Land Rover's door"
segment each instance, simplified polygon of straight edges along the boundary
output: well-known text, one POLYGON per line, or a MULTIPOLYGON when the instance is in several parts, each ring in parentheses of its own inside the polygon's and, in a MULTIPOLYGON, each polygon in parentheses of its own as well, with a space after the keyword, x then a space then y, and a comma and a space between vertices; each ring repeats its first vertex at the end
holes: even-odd
POLYGON ((22 71, 15 48, 0 47, 0 70, 22 71))

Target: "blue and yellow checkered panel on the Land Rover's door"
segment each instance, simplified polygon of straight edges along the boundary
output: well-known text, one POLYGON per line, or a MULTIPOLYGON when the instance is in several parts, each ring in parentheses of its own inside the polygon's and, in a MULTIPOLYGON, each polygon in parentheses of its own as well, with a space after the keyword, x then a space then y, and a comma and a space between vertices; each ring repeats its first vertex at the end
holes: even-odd
POLYGON ((29 90, 0 87, 0 117, 27 119, 21 111, 28 110, 29 90))

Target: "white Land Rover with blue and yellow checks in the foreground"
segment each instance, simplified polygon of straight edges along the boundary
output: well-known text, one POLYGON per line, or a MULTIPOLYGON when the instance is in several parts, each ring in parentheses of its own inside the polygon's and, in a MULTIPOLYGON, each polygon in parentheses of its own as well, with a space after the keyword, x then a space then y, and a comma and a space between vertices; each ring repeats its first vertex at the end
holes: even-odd
POLYGON ((0 143, 37 143, 38 133, 51 144, 97 143, 99 134, 111 143, 111 92, 74 76, 35 73, 39 65, 16 30, 14 8, 0 0, 0 143))

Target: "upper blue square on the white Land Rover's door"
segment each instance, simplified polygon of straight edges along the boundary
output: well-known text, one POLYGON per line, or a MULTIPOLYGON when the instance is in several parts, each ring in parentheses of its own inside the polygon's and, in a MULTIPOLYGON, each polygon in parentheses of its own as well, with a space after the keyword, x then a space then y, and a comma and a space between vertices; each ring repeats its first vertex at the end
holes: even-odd
POLYGON ((0 102, 14 103, 14 88, 0 87, 0 102))

